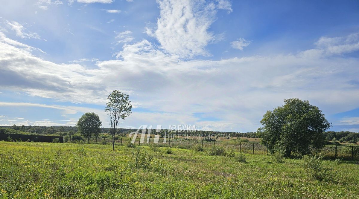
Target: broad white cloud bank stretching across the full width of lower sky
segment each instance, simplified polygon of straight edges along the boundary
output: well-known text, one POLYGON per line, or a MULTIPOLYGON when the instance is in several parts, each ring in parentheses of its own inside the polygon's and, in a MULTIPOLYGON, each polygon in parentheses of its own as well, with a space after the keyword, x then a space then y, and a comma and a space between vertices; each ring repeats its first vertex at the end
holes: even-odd
MULTIPOLYGON (((348 45, 355 44, 355 39, 351 41, 348 45)), ((335 44, 331 42, 331 46, 335 44)), ((86 68, 43 60, 34 56, 30 47, 0 39, 0 88, 99 105, 118 89, 130 94, 137 107, 153 111, 134 111, 126 125, 195 124, 199 129, 227 131, 255 131, 266 110, 291 97, 309 100, 325 114, 357 108, 359 100, 359 87, 350 82, 359 75, 359 61, 328 56, 322 47, 288 55, 190 61, 165 53, 147 40, 126 43, 122 48, 116 54, 119 60, 97 61, 97 68, 86 68), (199 112, 219 119, 199 121, 192 114, 199 112)), ((51 107, 68 114, 89 111, 85 107, 51 107)), ((106 115, 101 117, 106 119, 106 115)))

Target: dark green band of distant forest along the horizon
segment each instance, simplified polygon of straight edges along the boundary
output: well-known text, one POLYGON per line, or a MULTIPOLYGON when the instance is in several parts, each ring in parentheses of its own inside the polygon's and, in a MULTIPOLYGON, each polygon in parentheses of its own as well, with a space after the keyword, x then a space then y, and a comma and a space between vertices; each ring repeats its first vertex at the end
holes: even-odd
MULTIPOLYGON (((101 128, 101 133, 108 133, 110 128, 101 128)), ((78 131, 77 127, 43 127, 43 126, 0 126, 0 133, 19 133, 19 134, 47 134, 47 135, 67 135, 68 132, 74 132, 76 133, 78 131)), ((127 128, 120 128, 117 129, 119 134, 127 134, 131 132, 137 131, 137 129, 127 129, 127 128)), ((141 131, 142 132, 142 131, 141 131)), ((147 131, 146 131, 147 132, 147 131)), ((199 131, 196 132, 174 132, 174 131, 168 131, 168 129, 162 129, 160 132, 160 135, 163 137, 164 134, 167 134, 171 136, 171 134, 196 134, 199 136, 204 135, 218 135, 218 134, 224 134, 226 136, 231 137, 248 137, 248 138, 259 138, 255 132, 246 132, 246 133, 238 133, 238 132, 222 132, 222 131, 199 131)), ((151 134, 157 134, 155 132, 155 129, 152 129, 151 134)), ((350 140, 353 140, 355 142, 359 142, 359 133, 349 132, 349 131, 340 131, 340 132, 334 132, 334 131, 327 131, 323 133, 323 136, 327 141, 338 141, 338 142, 348 142, 350 140)))

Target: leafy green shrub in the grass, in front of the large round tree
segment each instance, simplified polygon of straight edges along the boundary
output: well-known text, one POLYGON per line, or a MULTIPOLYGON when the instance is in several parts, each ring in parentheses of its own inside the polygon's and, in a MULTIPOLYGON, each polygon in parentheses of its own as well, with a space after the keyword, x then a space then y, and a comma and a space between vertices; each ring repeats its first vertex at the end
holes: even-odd
POLYGON ((333 181, 336 173, 332 168, 322 165, 323 156, 305 155, 302 159, 303 169, 309 179, 319 181, 333 181))

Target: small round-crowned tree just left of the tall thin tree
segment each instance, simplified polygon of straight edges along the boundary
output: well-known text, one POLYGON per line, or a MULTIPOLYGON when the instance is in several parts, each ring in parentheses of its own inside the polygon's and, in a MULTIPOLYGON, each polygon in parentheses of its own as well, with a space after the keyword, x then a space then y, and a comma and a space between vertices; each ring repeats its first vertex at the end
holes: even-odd
POLYGON ((89 143, 92 136, 101 132, 101 124, 102 122, 96 113, 85 113, 77 121, 76 126, 81 135, 87 137, 87 143, 89 143))

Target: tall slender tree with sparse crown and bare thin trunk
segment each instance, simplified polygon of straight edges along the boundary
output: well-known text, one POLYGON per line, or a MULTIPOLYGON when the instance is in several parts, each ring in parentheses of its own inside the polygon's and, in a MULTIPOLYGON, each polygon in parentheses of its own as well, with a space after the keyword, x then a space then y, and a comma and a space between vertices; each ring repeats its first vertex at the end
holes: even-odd
POLYGON ((120 119, 131 115, 131 101, 127 94, 121 93, 118 90, 112 91, 107 97, 108 103, 104 112, 108 115, 108 124, 111 126, 110 134, 112 136, 112 150, 115 150, 115 136, 117 133, 117 126, 120 119))

